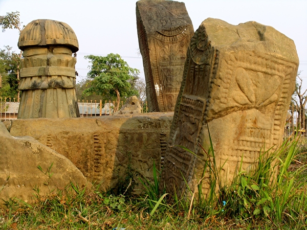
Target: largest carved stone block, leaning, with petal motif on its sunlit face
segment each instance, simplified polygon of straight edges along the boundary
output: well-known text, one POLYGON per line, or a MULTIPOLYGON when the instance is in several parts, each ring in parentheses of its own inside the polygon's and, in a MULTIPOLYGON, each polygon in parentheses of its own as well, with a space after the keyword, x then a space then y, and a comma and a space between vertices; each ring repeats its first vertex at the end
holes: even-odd
MULTIPOLYGON (((259 157, 275 150, 295 88, 298 56, 293 40, 250 21, 233 26, 208 18, 189 46, 181 91, 170 131, 162 184, 167 192, 191 190, 202 178, 209 133, 222 182, 233 179, 259 157), (184 146, 200 158, 184 151, 184 146)), ((206 174, 206 176, 208 176, 206 174)), ((208 183, 203 180, 203 192, 208 183)))

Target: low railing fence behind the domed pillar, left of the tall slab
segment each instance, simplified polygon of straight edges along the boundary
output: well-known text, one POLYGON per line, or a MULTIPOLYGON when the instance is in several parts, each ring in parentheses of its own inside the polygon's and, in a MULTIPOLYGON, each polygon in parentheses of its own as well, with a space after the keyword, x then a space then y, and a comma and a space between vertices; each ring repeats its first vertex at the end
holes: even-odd
MULTIPOLYGON (((78 100, 80 117, 109 116, 114 113, 114 101, 78 100)), ((119 109, 124 105, 122 101, 119 109)), ((142 113, 148 112, 147 101, 141 102, 142 113)), ((15 120, 18 115, 19 102, 15 98, 0 98, 0 121, 15 120)))

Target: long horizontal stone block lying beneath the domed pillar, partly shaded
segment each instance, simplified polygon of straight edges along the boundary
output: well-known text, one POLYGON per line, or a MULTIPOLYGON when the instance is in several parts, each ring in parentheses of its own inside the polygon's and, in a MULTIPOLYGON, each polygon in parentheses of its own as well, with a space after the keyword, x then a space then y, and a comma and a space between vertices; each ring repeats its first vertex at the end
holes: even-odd
POLYGON ((63 154, 106 190, 125 177, 128 165, 147 178, 152 178, 153 160, 161 169, 172 116, 173 112, 14 120, 11 134, 32 136, 63 154))

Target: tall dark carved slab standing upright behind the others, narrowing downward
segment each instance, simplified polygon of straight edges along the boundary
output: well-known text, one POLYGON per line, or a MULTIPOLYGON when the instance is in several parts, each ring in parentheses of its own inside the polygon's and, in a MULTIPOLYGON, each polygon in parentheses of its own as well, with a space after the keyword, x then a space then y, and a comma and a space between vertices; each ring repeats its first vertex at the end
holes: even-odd
POLYGON ((137 28, 150 112, 174 111, 186 52, 194 34, 184 3, 137 2, 137 28))

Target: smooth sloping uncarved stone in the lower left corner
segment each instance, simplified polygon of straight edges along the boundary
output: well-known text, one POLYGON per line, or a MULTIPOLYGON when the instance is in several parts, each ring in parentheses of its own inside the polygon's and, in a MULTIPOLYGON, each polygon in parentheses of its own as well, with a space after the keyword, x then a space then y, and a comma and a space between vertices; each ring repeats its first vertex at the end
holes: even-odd
POLYGON ((39 188, 40 195, 47 195, 53 190, 57 192, 58 189, 65 189, 70 182, 78 184, 80 188, 87 185, 86 178, 69 159, 33 137, 11 136, 2 122, 0 159, 0 202, 9 198, 31 202, 34 188, 39 188), (51 178, 37 166, 44 172, 52 166, 51 178))

